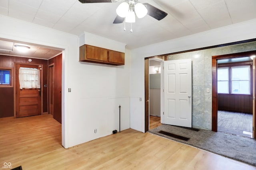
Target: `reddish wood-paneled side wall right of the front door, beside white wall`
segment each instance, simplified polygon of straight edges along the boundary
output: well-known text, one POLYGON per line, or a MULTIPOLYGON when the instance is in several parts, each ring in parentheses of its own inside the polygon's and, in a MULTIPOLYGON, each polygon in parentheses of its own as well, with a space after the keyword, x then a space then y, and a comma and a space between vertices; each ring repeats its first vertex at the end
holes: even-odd
POLYGON ((48 64, 54 64, 53 118, 61 123, 62 54, 50 59, 48 64))

